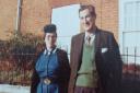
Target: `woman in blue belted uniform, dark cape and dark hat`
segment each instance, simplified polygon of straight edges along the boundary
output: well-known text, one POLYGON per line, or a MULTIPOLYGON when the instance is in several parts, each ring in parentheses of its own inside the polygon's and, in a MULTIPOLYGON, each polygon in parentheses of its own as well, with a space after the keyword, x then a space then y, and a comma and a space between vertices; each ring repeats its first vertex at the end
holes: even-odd
POLYGON ((45 49, 38 55, 31 93, 67 93, 70 67, 67 53, 57 48, 56 25, 44 27, 45 49))

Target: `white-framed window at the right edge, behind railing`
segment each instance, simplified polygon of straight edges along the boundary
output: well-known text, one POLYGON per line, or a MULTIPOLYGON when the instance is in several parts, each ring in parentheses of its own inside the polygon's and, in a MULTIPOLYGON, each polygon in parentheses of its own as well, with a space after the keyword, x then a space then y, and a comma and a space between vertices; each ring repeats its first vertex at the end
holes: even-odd
POLYGON ((119 42, 129 63, 140 65, 140 0, 121 0, 119 3, 119 42))

